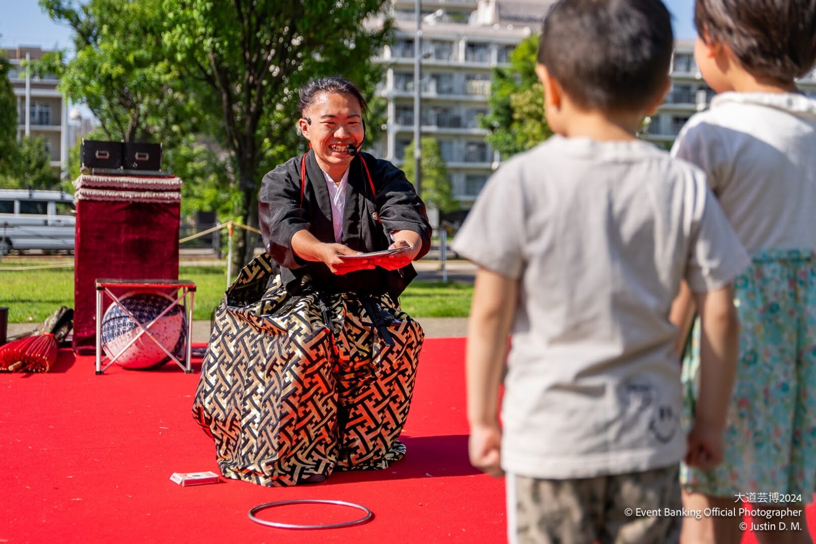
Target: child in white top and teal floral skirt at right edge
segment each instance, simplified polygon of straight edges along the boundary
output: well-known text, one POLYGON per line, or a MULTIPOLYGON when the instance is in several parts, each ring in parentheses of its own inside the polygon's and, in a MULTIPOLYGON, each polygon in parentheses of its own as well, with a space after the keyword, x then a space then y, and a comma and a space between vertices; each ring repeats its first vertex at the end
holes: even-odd
MULTIPOLYGON (((816 100, 795 78, 816 62, 816 2, 698 0, 694 23, 694 58, 719 94, 686 124, 672 153, 705 170, 752 263, 734 282, 742 331, 725 458, 712 470, 681 467, 684 502, 733 508, 756 493, 765 503, 755 506, 768 508, 782 497, 798 503, 782 506, 799 515, 774 522, 803 530, 757 537, 810 542, 801 503, 816 491, 816 100)), ((688 296, 675 305, 681 329, 691 307, 688 296)), ((698 363, 690 349, 683 379, 691 415, 698 363)), ((742 521, 687 520, 684 532, 690 542, 739 542, 742 521)))

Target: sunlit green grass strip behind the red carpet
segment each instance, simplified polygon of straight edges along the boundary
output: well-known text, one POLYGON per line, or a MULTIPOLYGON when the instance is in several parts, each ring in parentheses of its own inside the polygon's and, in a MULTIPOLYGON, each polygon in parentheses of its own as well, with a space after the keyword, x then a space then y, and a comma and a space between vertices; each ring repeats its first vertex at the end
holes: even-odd
MULTIPOLYGON (((2 259, 0 268, 69 263, 73 263, 73 257, 2 259)), ((224 266, 182 265, 179 277, 197 285, 193 319, 209 321, 227 288, 224 266)), ((472 285, 414 281, 402 294, 401 304, 410 316, 466 317, 472 293, 472 285)), ((42 321, 62 305, 73 307, 73 268, 0 270, 0 306, 9 307, 10 323, 42 321)))

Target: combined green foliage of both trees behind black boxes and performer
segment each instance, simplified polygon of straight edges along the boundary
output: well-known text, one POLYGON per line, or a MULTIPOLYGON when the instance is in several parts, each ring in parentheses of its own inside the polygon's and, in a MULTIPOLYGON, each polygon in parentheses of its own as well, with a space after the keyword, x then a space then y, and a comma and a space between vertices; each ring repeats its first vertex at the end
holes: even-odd
MULTIPOLYGON (((62 77, 60 89, 88 104, 108 139, 162 141, 190 189, 185 206, 232 203, 251 226, 259 180, 304 148, 298 87, 342 73, 373 95, 381 72, 369 59, 392 33, 390 20, 361 24, 386 0, 313 0, 308 9, 280 0, 39 2, 73 29, 76 49, 40 69, 62 77)), ((246 261, 245 243, 235 265, 246 261)))

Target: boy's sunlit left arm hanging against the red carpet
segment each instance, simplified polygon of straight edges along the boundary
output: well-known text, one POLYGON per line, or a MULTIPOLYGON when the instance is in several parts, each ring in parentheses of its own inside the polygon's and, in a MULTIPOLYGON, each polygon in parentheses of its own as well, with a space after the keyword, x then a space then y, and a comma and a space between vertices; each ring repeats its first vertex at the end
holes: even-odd
POLYGON ((468 321, 468 450, 472 465, 494 476, 502 475, 499 387, 517 294, 517 280, 479 268, 468 321))

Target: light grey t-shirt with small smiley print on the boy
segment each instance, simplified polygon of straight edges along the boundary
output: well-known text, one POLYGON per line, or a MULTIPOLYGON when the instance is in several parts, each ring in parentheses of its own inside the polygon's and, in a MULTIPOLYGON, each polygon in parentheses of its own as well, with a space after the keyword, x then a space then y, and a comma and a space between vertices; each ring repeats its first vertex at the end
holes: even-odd
POLYGON ((681 278, 714 290, 747 264, 700 170, 638 140, 553 136, 490 178, 454 248, 520 282, 505 470, 586 478, 682 458, 669 308, 681 278))

